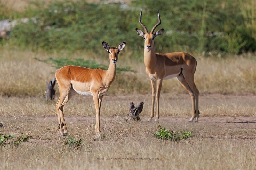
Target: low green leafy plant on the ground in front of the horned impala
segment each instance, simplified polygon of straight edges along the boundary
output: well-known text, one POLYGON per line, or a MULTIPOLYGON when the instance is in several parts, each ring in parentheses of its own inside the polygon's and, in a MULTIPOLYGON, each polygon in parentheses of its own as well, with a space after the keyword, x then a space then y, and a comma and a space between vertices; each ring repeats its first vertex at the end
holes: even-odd
POLYGON ((184 131, 182 134, 179 132, 174 133, 174 131, 166 130, 164 127, 158 125, 157 128, 160 130, 156 131, 154 136, 156 138, 165 139, 165 140, 172 140, 172 141, 180 141, 185 140, 192 137, 191 132, 184 131))

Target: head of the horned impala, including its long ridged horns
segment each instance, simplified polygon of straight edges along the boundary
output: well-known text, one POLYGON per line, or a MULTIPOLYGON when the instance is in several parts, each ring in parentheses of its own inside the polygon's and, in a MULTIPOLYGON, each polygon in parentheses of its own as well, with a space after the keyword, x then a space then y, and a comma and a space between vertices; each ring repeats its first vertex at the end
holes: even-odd
POLYGON ((151 48, 154 46, 154 38, 161 35, 162 32, 164 31, 164 29, 162 28, 154 33, 154 30, 156 29, 156 27, 161 24, 159 10, 157 10, 157 13, 158 13, 158 23, 155 26, 153 26, 151 32, 148 33, 146 26, 141 22, 141 16, 142 16, 142 9, 141 9, 139 23, 142 26, 142 28, 144 29, 145 33, 138 28, 135 29, 137 34, 144 38, 144 40, 145 40, 144 48, 147 49, 148 51, 150 51, 151 48))

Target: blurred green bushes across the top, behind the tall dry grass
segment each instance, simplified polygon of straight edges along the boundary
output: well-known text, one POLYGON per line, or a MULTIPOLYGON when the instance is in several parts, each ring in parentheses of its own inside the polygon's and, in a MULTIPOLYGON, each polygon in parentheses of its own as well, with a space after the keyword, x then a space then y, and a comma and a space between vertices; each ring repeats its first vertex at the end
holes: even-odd
POLYGON ((0 19, 28 17, 30 21, 15 26, 1 41, 33 50, 93 53, 102 51, 102 41, 126 41, 131 55, 141 58, 143 41, 135 32, 141 29, 141 8, 148 29, 156 24, 156 10, 160 11, 158 29, 164 28, 164 33, 156 39, 156 51, 224 56, 256 50, 254 0, 32 1, 23 11, 6 8, 3 0, 0 19))

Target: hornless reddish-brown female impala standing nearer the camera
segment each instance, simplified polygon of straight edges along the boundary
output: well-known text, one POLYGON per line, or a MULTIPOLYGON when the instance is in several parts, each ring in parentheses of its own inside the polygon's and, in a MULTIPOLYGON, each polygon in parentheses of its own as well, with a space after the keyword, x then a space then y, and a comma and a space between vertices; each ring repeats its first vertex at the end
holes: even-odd
POLYGON ((96 109, 96 136, 101 136, 100 132, 100 106, 103 95, 108 92, 109 86, 116 76, 116 62, 118 53, 124 49, 125 42, 118 47, 109 48, 108 43, 102 42, 103 47, 109 53, 108 70, 90 69, 80 66, 64 66, 55 72, 55 78, 59 87, 60 97, 56 104, 59 121, 59 131, 61 135, 68 133, 63 106, 77 92, 80 95, 93 96, 96 109))

